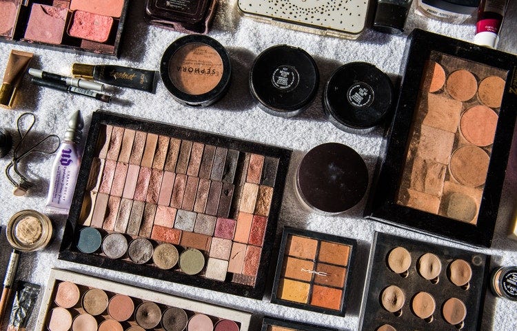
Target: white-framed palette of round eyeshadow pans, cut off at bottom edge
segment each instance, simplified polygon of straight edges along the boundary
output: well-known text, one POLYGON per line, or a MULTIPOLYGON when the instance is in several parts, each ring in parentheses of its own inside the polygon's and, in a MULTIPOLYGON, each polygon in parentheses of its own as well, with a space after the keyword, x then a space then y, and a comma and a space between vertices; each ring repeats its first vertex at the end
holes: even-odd
POLYGON ((246 331, 252 314, 52 270, 35 330, 246 331))

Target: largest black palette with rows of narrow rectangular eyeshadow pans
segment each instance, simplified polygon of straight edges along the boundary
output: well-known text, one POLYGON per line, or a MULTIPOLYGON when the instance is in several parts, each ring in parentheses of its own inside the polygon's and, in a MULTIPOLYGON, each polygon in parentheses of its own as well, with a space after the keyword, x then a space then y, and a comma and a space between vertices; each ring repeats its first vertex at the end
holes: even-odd
POLYGON ((94 112, 59 258, 260 298, 290 153, 94 112))

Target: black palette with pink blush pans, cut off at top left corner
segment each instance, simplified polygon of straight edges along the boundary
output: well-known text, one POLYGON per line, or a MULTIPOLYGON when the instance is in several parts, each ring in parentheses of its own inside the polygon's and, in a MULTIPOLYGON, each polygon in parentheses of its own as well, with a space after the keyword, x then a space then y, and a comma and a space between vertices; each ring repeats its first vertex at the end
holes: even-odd
POLYGON ((128 0, 2 0, 0 41, 119 56, 128 0))

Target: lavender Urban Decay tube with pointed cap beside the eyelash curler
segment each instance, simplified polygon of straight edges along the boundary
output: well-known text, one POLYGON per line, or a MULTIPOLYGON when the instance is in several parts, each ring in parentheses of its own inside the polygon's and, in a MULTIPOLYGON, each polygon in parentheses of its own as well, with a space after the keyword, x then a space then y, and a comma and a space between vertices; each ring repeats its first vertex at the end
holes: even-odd
POLYGON ((66 129, 65 137, 57 150, 57 157, 52 165, 46 206, 49 212, 67 214, 70 210, 81 163, 81 154, 79 154, 77 144, 81 140, 83 126, 83 117, 77 110, 68 119, 68 129, 66 129))

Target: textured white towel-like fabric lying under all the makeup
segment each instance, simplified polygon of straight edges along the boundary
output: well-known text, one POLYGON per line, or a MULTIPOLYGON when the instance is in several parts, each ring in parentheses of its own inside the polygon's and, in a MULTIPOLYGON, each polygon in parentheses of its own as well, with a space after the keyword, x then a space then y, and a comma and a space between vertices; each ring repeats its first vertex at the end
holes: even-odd
MULTIPOLYGON (((150 27, 143 23, 141 18, 143 2, 131 1, 130 3, 130 12, 125 26, 125 36, 123 37, 123 51, 119 61, 0 43, 0 72, 5 70, 8 55, 12 48, 34 52, 33 67, 61 74, 69 74, 74 62, 112 63, 159 70, 163 51, 172 41, 181 37, 182 34, 150 27)), ((516 54, 517 1, 510 2, 499 49, 516 54)), ((333 317, 286 308, 281 305, 273 305, 269 303, 269 292, 266 292, 262 301, 256 301, 221 294, 221 292, 191 288, 176 283, 157 281, 156 279, 58 261, 57 252, 61 243, 62 226, 65 223, 65 217, 52 217, 57 225, 57 238, 49 248, 43 252, 28 253, 21 256, 17 279, 45 285, 50 268, 55 266, 57 268, 80 270, 81 272, 98 275, 99 277, 139 285, 143 288, 241 308, 256 312, 259 315, 266 314, 272 317, 305 321, 307 323, 338 328, 339 330, 356 330, 360 319, 361 297, 369 256, 369 245, 372 242, 374 231, 389 232, 433 243, 465 248, 465 246, 458 245, 457 243, 450 243, 363 219, 361 215, 365 199, 343 217, 323 217, 304 210, 301 203, 294 196, 292 178, 294 177, 296 165, 304 152, 319 143, 337 141, 355 148, 367 161, 370 176, 373 173, 378 157, 383 132, 381 128, 374 130, 370 134, 359 136, 341 132, 323 120, 321 89, 332 71, 344 63, 366 61, 373 63, 381 70, 390 74, 395 81, 398 81, 398 72, 401 66, 405 40, 407 34, 413 28, 422 28, 465 41, 471 41, 474 37, 474 19, 461 25, 440 23, 432 19, 416 16, 413 8, 409 14, 405 34, 393 36, 367 30, 360 39, 349 41, 287 30, 266 23, 258 23, 239 15, 239 12, 236 10, 236 0, 223 0, 219 6, 214 27, 209 35, 219 40, 230 52, 234 76, 230 92, 219 103, 210 108, 192 109, 180 106, 172 99, 161 82, 156 94, 130 89, 116 89, 114 94, 119 99, 119 102, 105 106, 100 101, 94 99, 31 86, 26 77, 19 92, 17 109, 0 110, 0 127, 6 128, 13 133, 15 132, 16 119, 21 112, 32 111, 37 116, 37 123, 34 129, 39 134, 54 132, 62 136, 66 129, 68 114, 78 109, 85 116, 87 122, 85 132, 87 132, 90 114, 96 109, 103 108, 121 114, 131 114, 146 119, 159 120, 165 123, 173 123, 189 128, 227 134, 231 137, 291 148, 294 150, 294 154, 289 180, 285 188, 278 233, 281 232, 281 225, 292 225, 298 228, 338 234, 358 240, 360 245, 353 270, 354 279, 350 289, 346 317, 333 317), (252 101, 250 92, 248 92, 247 74, 254 57, 266 48, 281 43, 305 49, 316 58, 321 71, 322 83, 316 100, 304 114, 294 119, 281 119, 266 114, 256 106, 252 101)), ((514 143, 514 145, 517 145, 517 143, 514 143)), ((517 149, 514 149, 512 152, 513 165, 509 166, 509 169, 513 169, 509 172, 513 172, 513 174, 507 176, 507 184, 505 185, 505 193, 500 206, 494 243, 491 249, 481 250, 496 256, 496 259, 503 265, 517 265, 517 241, 510 241, 506 238, 511 210, 516 207, 516 154, 517 149)), ((27 197, 13 197, 10 183, 4 176, 1 176, 1 225, 6 225, 12 214, 19 210, 32 208, 43 211, 52 159, 52 157, 34 157, 28 163, 23 163, 21 167, 23 172, 29 174, 31 179, 38 179, 36 187, 31 190, 27 197)), ((7 164, 8 158, 0 159, 0 168, 2 170, 7 164)), ((4 233, 1 234, 0 243, 0 272, 1 277, 3 277, 3 270, 6 268, 10 251, 4 233)), ((272 261, 273 264, 274 262, 272 261)), ((483 330, 517 330, 517 303, 503 299, 494 299, 489 293, 487 293, 486 298, 487 304, 483 318, 483 330)), ((39 310, 39 307, 37 310, 39 310)), ((35 316, 37 316, 37 312, 34 312, 32 323, 34 323, 35 316)), ((7 319, 3 322, 5 325, 7 319)), ((259 319, 256 319, 256 322, 256 329, 252 330, 259 330, 259 319)))

